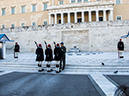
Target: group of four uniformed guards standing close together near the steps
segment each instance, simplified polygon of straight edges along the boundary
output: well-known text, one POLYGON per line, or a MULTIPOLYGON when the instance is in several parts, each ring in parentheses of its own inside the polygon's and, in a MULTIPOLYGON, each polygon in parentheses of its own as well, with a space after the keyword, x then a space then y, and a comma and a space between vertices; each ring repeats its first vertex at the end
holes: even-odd
MULTIPOLYGON (((61 72, 61 70, 64 70, 65 68, 65 53, 66 53, 66 47, 64 46, 64 43, 61 42, 61 47, 59 43, 56 44, 55 49, 54 49, 54 59, 53 59, 53 54, 52 54, 52 49, 51 45, 48 44, 46 49, 45 49, 45 61, 47 61, 46 67, 47 67, 47 72, 51 72, 52 69, 50 69, 50 64, 51 61, 55 60, 56 61, 56 73, 61 72), (62 67, 62 62, 63 62, 63 67, 62 67)), ((44 69, 42 69, 42 61, 44 60, 44 52, 42 45, 39 44, 38 48, 36 49, 36 61, 38 61, 38 71, 42 72, 44 69)))

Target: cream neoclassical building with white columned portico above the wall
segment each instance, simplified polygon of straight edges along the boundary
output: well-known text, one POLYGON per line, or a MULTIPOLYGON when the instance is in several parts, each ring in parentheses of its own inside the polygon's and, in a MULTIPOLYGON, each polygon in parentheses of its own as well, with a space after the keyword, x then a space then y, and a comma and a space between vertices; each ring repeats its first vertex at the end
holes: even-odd
POLYGON ((0 0, 0 28, 129 20, 129 0, 0 0))

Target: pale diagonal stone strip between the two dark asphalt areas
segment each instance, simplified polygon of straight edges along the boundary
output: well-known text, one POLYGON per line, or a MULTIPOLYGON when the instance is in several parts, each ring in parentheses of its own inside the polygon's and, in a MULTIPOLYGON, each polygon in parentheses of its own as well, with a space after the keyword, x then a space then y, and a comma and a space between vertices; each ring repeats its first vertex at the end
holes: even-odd
POLYGON ((116 86, 106 79, 102 74, 90 74, 106 96, 114 96, 116 86))

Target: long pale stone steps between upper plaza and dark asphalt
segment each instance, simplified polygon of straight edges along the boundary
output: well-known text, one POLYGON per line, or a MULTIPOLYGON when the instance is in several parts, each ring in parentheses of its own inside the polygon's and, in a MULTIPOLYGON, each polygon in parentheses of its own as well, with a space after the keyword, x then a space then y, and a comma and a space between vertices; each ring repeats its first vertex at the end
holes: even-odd
MULTIPOLYGON (((43 68, 46 68, 46 64, 43 64, 43 68)), ((51 65, 51 68, 55 68, 55 64, 51 65)), ((37 64, 0 64, 0 69, 13 69, 13 70, 37 70, 37 64)), ((65 71, 68 72, 91 72, 91 71, 129 71, 129 65, 73 65, 67 64, 65 71)))

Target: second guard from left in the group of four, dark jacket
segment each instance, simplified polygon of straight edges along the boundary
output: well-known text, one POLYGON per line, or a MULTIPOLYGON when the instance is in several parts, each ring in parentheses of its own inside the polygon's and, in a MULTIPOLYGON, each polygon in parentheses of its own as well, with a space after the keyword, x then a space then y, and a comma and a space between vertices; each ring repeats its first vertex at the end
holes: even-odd
POLYGON ((47 61, 47 72, 51 72, 52 69, 50 70, 50 67, 51 67, 51 61, 53 60, 53 55, 52 55, 52 49, 51 49, 51 45, 48 44, 48 47, 46 48, 45 50, 45 55, 46 55, 46 59, 45 61, 47 61))

